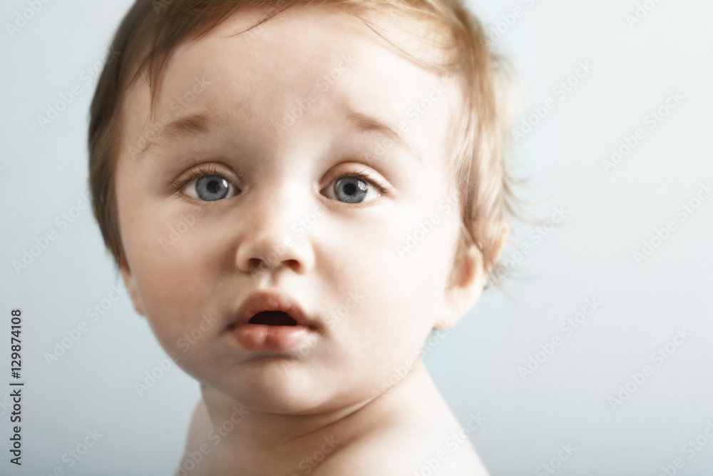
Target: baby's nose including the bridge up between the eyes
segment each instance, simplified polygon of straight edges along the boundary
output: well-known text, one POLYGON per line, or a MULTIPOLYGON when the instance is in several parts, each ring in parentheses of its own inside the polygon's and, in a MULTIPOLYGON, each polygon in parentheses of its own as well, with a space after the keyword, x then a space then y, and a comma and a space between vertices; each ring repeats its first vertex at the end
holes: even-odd
POLYGON ((312 249, 300 233, 300 217, 309 208, 306 186, 279 178, 272 185, 258 185, 243 218, 245 234, 238 248, 240 269, 272 269, 284 264, 304 272, 312 267, 312 249))

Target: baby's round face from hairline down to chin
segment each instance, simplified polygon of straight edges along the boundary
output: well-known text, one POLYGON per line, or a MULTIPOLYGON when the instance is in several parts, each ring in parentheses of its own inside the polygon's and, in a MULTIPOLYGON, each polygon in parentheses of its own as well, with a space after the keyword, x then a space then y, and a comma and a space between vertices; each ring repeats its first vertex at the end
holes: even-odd
POLYGON ((445 163, 460 96, 349 14, 289 9, 230 36, 259 18, 175 51, 152 118, 148 84, 129 91, 123 276, 204 385, 255 409, 329 410, 371 397, 454 317, 445 163), (303 325, 238 322, 262 290, 296 301, 303 325))

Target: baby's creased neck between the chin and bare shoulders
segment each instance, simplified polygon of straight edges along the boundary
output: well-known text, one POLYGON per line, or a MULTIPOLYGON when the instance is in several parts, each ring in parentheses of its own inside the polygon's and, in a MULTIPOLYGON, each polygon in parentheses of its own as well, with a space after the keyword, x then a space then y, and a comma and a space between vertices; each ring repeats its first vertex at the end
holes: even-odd
POLYGON ((223 455, 218 459, 225 458, 225 465, 230 460, 231 471, 245 475, 299 472, 305 455, 320 449, 342 451, 367 432, 379 430, 380 423, 394 422, 438 393, 420 358, 386 393, 310 415, 261 412, 204 385, 201 391, 209 424, 221 436, 216 443, 214 435, 210 446, 215 446, 217 455, 223 455))

